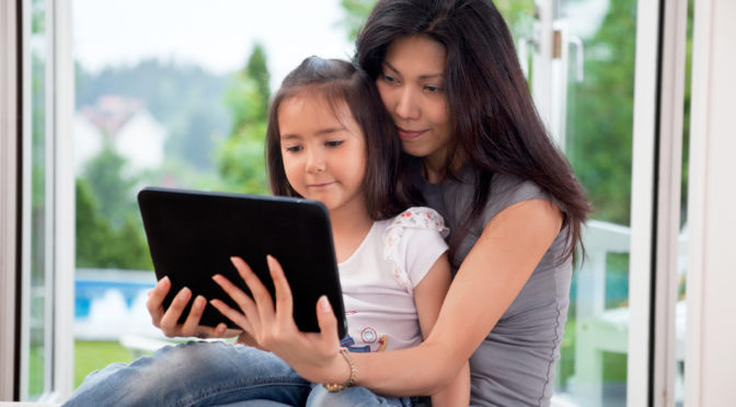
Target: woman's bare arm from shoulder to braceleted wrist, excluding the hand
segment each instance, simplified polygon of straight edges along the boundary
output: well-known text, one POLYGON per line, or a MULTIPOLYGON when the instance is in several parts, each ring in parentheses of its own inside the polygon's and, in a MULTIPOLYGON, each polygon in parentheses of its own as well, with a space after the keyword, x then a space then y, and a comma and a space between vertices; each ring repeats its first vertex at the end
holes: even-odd
POLYGON ((561 226, 559 208, 542 199, 496 214, 460 266, 425 341, 394 352, 355 354, 357 384, 390 395, 444 387, 516 299, 561 226))

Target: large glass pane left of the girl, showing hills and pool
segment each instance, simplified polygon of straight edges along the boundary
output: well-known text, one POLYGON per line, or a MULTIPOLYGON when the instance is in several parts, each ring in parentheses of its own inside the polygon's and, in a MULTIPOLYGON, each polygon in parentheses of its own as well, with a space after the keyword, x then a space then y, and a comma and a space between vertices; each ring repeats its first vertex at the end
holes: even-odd
POLYGON ((74 0, 76 377, 158 342, 136 194, 267 194, 272 90, 310 55, 347 58, 340 0, 74 0), (285 12, 286 11, 286 12, 285 12), (135 30, 130 30, 135 27, 135 30))

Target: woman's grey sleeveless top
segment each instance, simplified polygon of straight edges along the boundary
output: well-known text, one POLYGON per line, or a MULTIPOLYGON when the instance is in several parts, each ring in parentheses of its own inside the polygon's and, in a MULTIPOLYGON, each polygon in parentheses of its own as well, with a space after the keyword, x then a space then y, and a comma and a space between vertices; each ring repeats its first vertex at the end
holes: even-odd
MULTIPOLYGON (((445 217, 451 233, 470 213, 473 175, 472 170, 464 166, 453 178, 440 184, 415 178, 427 205, 445 217)), ((455 252, 453 272, 494 216, 528 199, 548 199, 560 206, 534 183, 495 174, 491 179, 491 194, 482 216, 470 225, 468 234, 455 252)), ((550 405, 554 365, 560 359, 560 344, 570 304, 572 260, 560 260, 565 242, 566 230, 563 229, 521 292, 470 358, 471 405, 550 405)), ((487 268, 488 272, 493 272, 493 265, 487 268)))

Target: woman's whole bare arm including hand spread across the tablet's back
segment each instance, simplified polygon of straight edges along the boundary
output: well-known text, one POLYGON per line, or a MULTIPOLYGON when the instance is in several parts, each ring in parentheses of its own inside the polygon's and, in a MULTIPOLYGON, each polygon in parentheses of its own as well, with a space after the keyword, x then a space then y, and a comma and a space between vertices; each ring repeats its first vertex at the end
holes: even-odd
MULTIPOLYGON (((562 213, 549 200, 515 203, 496 214, 458 270, 429 336, 419 346, 388 352, 350 353, 356 383, 396 396, 434 394, 457 372, 493 329, 521 291, 560 233, 562 213)), ((276 307, 258 278, 242 260, 233 261, 253 299, 221 276, 216 281, 242 313, 212 304, 302 377, 318 383, 344 383, 350 369, 340 353, 337 321, 326 298, 317 304, 321 333, 301 333, 294 323, 294 302, 280 266, 269 259, 276 307)))

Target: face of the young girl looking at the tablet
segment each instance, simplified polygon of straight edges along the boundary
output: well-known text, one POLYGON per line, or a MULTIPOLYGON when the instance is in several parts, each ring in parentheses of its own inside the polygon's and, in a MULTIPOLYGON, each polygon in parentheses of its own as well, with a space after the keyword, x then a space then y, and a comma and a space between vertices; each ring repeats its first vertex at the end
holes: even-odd
POLYGON ((365 211, 366 140, 346 105, 336 113, 319 96, 281 102, 278 128, 286 177, 299 195, 321 201, 331 212, 365 211))

